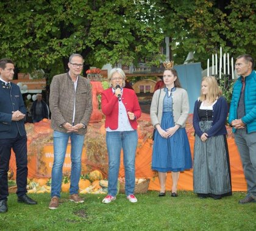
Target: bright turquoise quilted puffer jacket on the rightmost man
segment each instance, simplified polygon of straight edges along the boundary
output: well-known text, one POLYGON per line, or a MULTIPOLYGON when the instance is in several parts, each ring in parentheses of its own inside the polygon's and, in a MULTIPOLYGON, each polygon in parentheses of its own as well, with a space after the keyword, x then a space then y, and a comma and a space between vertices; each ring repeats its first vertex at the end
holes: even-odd
MULTIPOLYGON (((229 109, 229 123, 237 118, 237 107, 240 99, 242 81, 241 76, 236 80, 233 87, 232 100, 229 109)), ((247 133, 253 133, 256 131, 256 72, 252 71, 250 75, 245 78, 244 88, 244 108, 245 116, 242 117, 242 121, 246 124, 247 133)), ((233 133, 236 129, 233 128, 233 133)))

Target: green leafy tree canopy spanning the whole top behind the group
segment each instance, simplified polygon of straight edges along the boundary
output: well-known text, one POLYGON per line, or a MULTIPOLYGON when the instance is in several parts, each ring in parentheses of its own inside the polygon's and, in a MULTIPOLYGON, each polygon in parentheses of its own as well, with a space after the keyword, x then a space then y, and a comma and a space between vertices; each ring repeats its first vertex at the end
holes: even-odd
POLYGON ((233 57, 256 54, 254 0, 9 0, 0 2, 0 19, 1 57, 49 77, 65 71, 74 52, 85 58, 84 71, 141 60, 158 65, 165 36, 177 64, 193 51, 206 67, 220 46, 233 57))

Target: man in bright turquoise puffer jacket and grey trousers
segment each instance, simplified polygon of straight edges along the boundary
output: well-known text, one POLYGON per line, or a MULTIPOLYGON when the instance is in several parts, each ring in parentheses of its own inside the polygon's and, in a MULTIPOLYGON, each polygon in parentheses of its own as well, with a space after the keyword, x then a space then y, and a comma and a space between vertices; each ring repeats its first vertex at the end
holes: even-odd
POLYGON ((229 123, 243 162, 247 195, 240 204, 256 202, 256 72, 251 55, 236 58, 235 69, 240 77, 233 87, 229 123))

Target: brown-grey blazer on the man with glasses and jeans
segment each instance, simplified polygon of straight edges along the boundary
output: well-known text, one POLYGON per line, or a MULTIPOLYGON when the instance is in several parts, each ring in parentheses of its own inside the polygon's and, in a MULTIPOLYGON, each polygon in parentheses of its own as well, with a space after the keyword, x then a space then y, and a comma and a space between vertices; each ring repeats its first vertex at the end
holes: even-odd
MULTIPOLYGON (((74 83, 68 73, 55 75, 52 78, 49 97, 52 129, 66 133, 66 129, 61 125, 65 122, 72 124, 74 100, 76 102, 74 124, 83 123, 87 126, 93 109, 90 81, 79 76, 75 92, 74 83)), ((87 128, 81 128, 77 134, 83 135, 86 132, 87 128)))

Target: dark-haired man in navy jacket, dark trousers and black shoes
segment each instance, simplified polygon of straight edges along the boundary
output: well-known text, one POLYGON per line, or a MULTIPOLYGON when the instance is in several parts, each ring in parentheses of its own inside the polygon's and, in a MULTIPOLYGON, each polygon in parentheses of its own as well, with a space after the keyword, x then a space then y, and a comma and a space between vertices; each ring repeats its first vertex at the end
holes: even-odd
POLYGON ((26 193, 27 136, 24 126, 26 107, 19 86, 13 79, 12 60, 0 60, 0 213, 7 212, 9 160, 13 149, 16 157, 16 183, 18 202, 37 204, 26 193))

